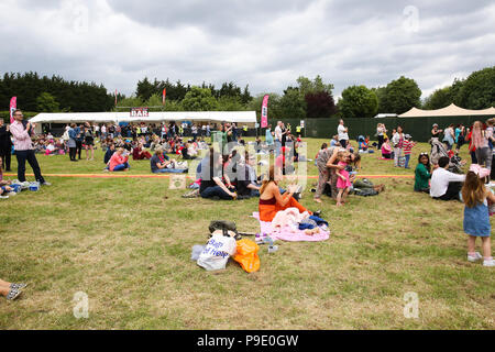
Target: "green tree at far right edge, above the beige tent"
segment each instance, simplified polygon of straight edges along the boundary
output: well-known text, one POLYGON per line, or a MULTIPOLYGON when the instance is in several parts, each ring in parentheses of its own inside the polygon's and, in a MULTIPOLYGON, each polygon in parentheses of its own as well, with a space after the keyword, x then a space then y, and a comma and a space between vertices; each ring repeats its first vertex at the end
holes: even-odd
POLYGON ((472 73, 463 81, 457 100, 464 109, 495 107, 495 66, 472 73))

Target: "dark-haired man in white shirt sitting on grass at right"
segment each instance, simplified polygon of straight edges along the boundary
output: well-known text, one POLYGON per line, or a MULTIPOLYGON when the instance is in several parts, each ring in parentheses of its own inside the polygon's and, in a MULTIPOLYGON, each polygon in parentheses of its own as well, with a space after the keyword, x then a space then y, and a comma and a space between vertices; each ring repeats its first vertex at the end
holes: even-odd
POLYGON ((430 197, 439 200, 460 200, 459 193, 465 175, 458 175, 447 170, 449 157, 442 156, 438 160, 438 168, 431 175, 430 197))

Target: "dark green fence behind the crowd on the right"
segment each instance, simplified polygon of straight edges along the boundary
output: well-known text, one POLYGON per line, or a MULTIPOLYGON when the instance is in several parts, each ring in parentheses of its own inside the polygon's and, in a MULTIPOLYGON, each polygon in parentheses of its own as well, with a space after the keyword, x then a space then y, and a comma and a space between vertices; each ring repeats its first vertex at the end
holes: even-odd
MULTIPOLYGON (((462 123, 463 125, 471 127, 474 121, 480 120, 485 122, 491 117, 452 117, 452 118, 382 118, 382 119, 344 119, 345 127, 349 128, 349 138, 356 140, 359 135, 369 135, 371 140, 376 140, 376 125, 384 123, 388 130, 391 136, 392 130, 398 125, 403 127, 404 132, 410 134, 414 141, 428 142, 431 138, 431 129, 433 123, 438 123, 441 130, 444 130, 449 124, 462 123)), ((306 131, 302 130, 302 134, 307 138, 318 139, 331 139, 337 134, 337 128, 339 125, 339 118, 329 119, 306 119, 306 131)), ((275 129, 277 121, 270 120, 272 130, 275 129)), ((296 127, 300 123, 300 120, 284 120, 284 123, 290 123, 293 134, 296 133, 296 127)), ((264 129, 261 131, 261 135, 264 135, 264 129)))

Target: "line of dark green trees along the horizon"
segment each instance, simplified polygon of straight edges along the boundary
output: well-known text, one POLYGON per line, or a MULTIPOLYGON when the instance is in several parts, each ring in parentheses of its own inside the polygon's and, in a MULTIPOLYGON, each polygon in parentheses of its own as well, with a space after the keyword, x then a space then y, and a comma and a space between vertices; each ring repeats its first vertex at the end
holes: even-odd
POLYGON ((400 114, 413 107, 427 110, 455 103, 465 109, 486 109, 495 106, 495 66, 472 73, 465 79, 455 79, 451 86, 436 90, 421 101, 421 89, 407 77, 399 77, 384 87, 351 86, 342 91, 338 102, 333 98, 333 85, 321 76, 314 79, 299 77, 283 94, 263 92, 251 96, 249 86, 234 82, 216 87, 170 82, 147 77, 138 81, 135 94, 127 97, 109 94, 102 85, 85 81, 66 81, 59 76, 40 77, 37 73, 4 74, 0 78, 0 105, 8 110, 10 98, 18 97, 19 106, 37 112, 92 112, 128 109, 128 107, 160 107, 165 111, 246 111, 258 114, 263 97, 270 95, 271 119, 306 118, 372 118, 376 113, 400 114), (162 107, 162 94, 166 89, 166 105, 162 107))

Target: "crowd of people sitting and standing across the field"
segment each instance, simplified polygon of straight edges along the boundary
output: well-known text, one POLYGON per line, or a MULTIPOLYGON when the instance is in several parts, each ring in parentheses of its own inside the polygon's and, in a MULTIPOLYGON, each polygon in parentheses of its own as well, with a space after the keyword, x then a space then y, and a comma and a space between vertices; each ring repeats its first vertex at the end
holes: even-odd
MULTIPOLYGON (((50 186, 41 172, 35 153, 45 155, 69 155, 69 161, 81 158, 82 148, 86 160, 94 161, 95 148, 105 152, 106 170, 127 172, 133 161, 150 161, 150 169, 154 174, 185 173, 185 161, 198 158, 197 179, 191 185, 196 195, 206 199, 238 200, 256 197, 261 221, 272 221, 279 211, 289 208, 300 213, 320 216, 320 211, 310 211, 300 202, 301 188, 288 185, 280 188, 284 175, 293 174, 294 164, 301 161, 299 147, 300 134, 295 138, 290 127, 282 121, 272 131, 270 125, 265 132, 265 141, 256 138, 246 144, 231 123, 222 123, 219 128, 220 147, 216 148, 205 141, 211 133, 208 127, 191 127, 193 138, 183 138, 183 125, 175 123, 157 127, 133 125, 94 125, 89 122, 81 125, 70 124, 62 139, 55 139, 50 131, 37 138, 33 135, 34 125, 23 119, 21 110, 13 113, 14 121, 4 125, 0 120, 0 197, 16 194, 12 183, 3 179, 3 172, 11 168, 11 152, 15 151, 18 161, 18 182, 25 183, 25 163, 32 167, 36 182, 50 186), (237 148, 248 146, 248 148, 237 148), (250 148, 251 146, 251 148, 250 148), (204 153, 201 153, 204 151, 204 153), (240 152, 242 151, 242 153, 240 152), (169 157, 168 155, 175 157, 169 157), (205 155, 206 154, 206 155, 205 155), (257 175, 256 154, 273 154, 274 164, 264 175, 257 175), (200 156, 202 155, 202 156, 200 156)), ((435 200, 458 200, 464 202, 464 232, 468 234, 468 260, 483 260, 484 266, 495 266, 491 256, 491 207, 495 205, 495 195, 491 190, 490 180, 494 175, 492 163, 494 157, 493 134, 494 120, 486 123, 476 121, 471 128, 462 124, 450 124, 440 130, 433 124, 431 130, 431 150, 418 156, 415 169, 414 190, 426 193, 435 200), (443 136, 443 138, 442 138, 443 136), (441 139, 442 138, 442 139, 441 139), (460 172, 459 152, 468 144, 472 165, 466 174, 460 172), (455 150, 454 150, 455 146, 455 150), (475 252, 477 238, 482 239, 483 254, 475 252)), ((316 155, 318 184, 312 191, 314 199, 321 204, 323 194, 330 196, 338 207, 349 204, 349 195, 355 188, 369 188, 374 195, 385 189, 384 185, 374 186, 356 178, 361 169, 363 152, 376 148, 382 158, 393 160, 394 167, 410 168, 410 155, 416 145, 411 136, 404 133, 402 127, 393 129, 388 138, 385 124, 376 128, 377 143, 371 144, 370 136, 360 136, 358 147, 349 138, 349 129, 341 120, 337 134, 323 143, 316 155)), ((24 284, 11 284, 0 280, 0 294, 8 299, 15 299, 24 284)))

